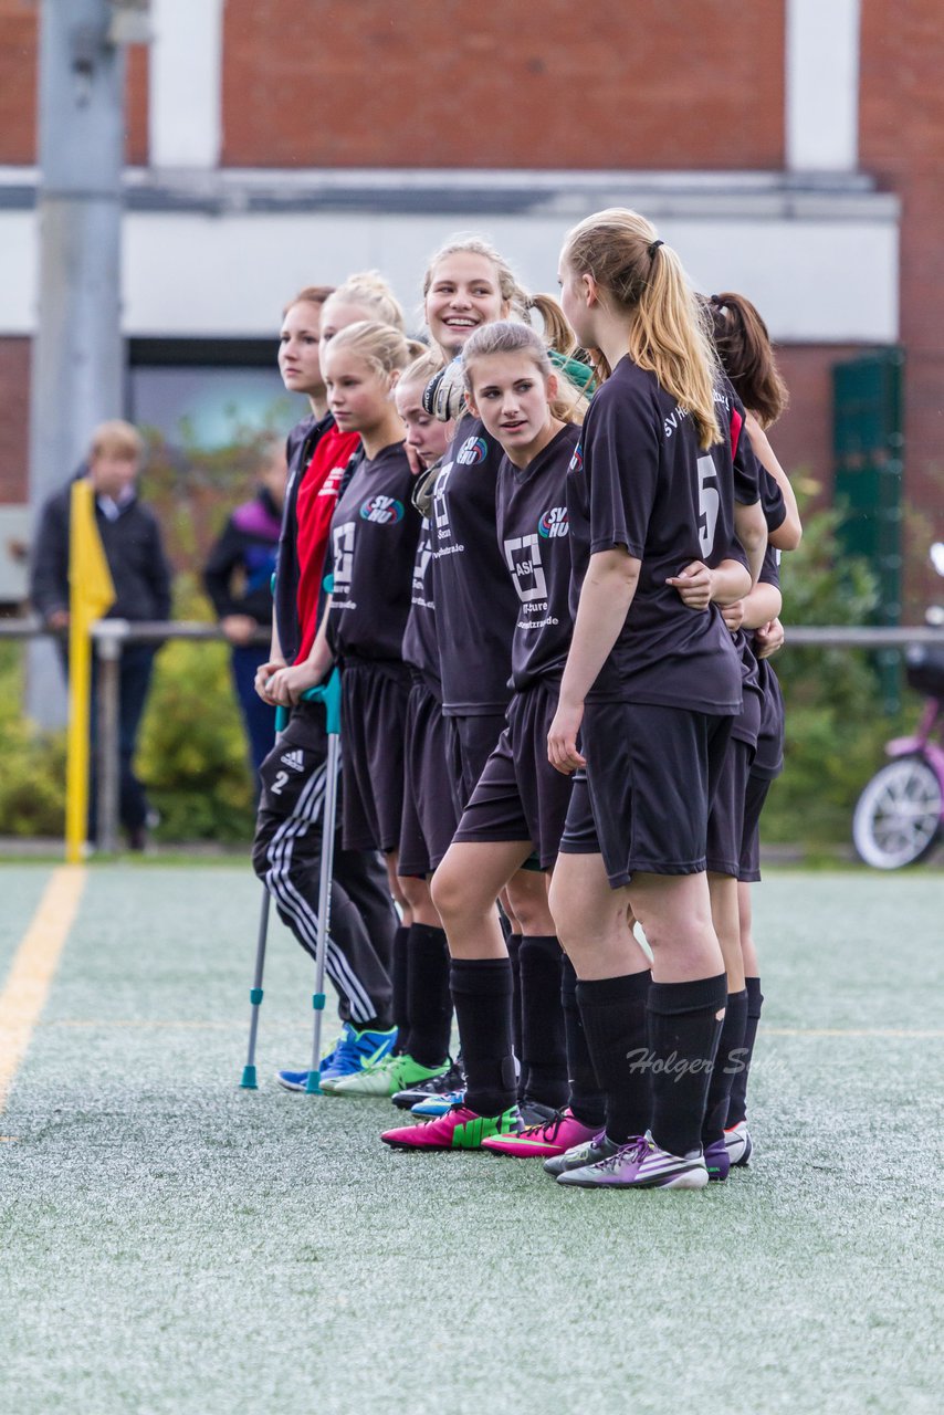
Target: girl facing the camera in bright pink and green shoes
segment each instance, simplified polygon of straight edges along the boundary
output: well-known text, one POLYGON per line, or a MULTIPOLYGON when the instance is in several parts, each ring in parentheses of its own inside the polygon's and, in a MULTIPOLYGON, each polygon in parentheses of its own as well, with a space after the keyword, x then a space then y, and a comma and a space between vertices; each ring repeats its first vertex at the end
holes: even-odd
MULTIPOLYGON (((542 340, 524 324, 498 321, 476 330, 464 345, 463 368, 471 410, 504 450, 497 545, 518 606, 511 644, 514 695, 507 726, 433 880, 453 955, 464 1101, 440 1119, 388 1131, 384 1139, 410 1149, 484 1145, 508 1155, 548 1156, 596 1133, 601 1097, 577 1027, 577 1036, 568 1037, 570 1107, 518 1133, 511 978, 495 899, 529 857, 542 872, 553 867, 570 795, 568 778, 548 763, 546 734, 570 641, 565 490, 585 403, 555 374, 542 340)), ((555 945, 559 965, 556 938, 542 942, 555 945)), ((648 966, 641 952, 640 958, 648 966)), ((525 982, 531 982, 528 975, 525 982)), ((542 1084, 546 1056, 541 1034, 559 1006, 559 986, 558 971, 543 993, 522 989, 522 1050, 535 1088, 542 1084)), ((556 1071, 560 1058, 549 1060, 556 1071)))

